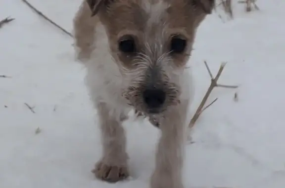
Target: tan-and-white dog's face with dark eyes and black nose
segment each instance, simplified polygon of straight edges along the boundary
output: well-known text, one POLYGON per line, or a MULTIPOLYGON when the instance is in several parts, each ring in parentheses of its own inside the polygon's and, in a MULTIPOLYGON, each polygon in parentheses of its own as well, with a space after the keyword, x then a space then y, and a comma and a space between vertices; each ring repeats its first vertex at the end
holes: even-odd
POLYGON ((195 31, 214 0, 87 0, 105 26, 122 95, 146 114, 179 103, 195 31))

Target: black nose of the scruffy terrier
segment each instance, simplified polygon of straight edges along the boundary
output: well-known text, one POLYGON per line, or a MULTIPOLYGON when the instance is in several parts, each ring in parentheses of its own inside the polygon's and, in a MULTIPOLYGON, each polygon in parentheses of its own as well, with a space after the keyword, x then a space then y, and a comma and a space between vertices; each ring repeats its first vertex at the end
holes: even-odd
POLYGON ((166 94, 161 89, 146 89, 142 97, 148 108, 155 109, 163 105, 166 94))

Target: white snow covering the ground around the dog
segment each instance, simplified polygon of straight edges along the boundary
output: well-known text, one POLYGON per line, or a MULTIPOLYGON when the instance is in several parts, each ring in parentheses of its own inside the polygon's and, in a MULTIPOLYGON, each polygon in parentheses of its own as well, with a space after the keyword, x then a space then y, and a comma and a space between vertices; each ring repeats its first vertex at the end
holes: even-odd
MULTIPOLYGON (((29 2, 72 30, 80 0, 29 2)), ((146 121, 127 121, 132 179, 96 180, 96 112, 84 69, 74 61, 72 38, 21 0, 0 4, 0 19, 15 18, 0 29, 0 75, 11 76, 0 78, 0 188, 147 188, 158 130, 146 121)), ((216 88, 208 99, 218 101, 193 129, 185 188, 285 188, 285 1, 257 4, 261 10, 251 13, 235 4, 234 20, 214 12, 198 30, 190 60, 196 85, 192 111, 210 82, 204 60, 213 74, 228 62, 219 82, 239 88, 216 88)))

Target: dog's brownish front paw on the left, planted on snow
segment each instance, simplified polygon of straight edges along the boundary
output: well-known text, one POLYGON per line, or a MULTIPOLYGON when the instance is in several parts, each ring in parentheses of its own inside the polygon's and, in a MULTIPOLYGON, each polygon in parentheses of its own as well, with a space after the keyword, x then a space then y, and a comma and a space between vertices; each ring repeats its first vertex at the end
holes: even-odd
POLYGON ((102 161, 99 161, 95 165, 95 169, 92 170, 92 172, 95 174, 97 179, 110 183, 122 181, 129 177, 127 166, 112 166, 102 161))

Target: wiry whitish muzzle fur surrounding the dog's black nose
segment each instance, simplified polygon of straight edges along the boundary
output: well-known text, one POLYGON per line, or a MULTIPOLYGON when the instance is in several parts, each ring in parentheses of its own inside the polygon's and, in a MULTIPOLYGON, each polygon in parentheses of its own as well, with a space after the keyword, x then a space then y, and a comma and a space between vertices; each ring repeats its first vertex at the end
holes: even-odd
MULTIPOLYGON (((156 50, 157 51, 157 50, 156 50)), ((155 113, 163 113, 168 107, 180 103, 180 87, 176 83, 177 70, 174 68, 174 63, 169 53, 161 53, 155 58, 152 55, 140 53, 134 60, 134 69, 123 68, 124 77, 123 96, 127 99, 128 105, 133 106, 137 112, 143 113, 144 116, 151 116, 153 112, 147 108, 144 103, 142 93, 149 88, 162 90, 165 93, 165 101, 163 105, 155 109, 155 113), (154 62, 154 63, 153 63, 154 62)))

